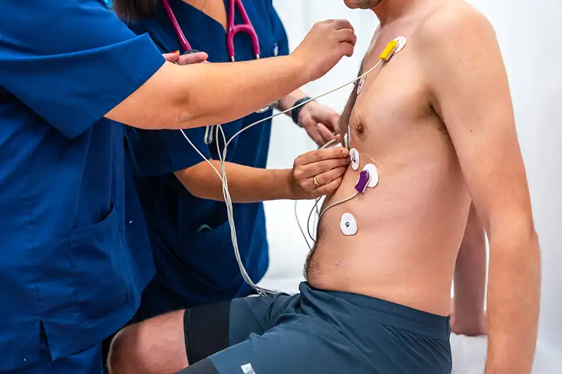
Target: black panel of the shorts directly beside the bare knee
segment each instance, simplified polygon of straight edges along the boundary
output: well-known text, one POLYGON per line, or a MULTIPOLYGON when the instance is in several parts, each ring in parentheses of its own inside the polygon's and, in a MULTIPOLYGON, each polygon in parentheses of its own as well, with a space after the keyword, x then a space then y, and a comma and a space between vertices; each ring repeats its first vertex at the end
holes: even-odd
MULTIPOLYGON (((185 310, 183 333, 185 352, 190 365, 195 365, 212 354, 228 348, 229 321, 230 301, 185 310)), ((209 364, 212 365, 210 361, 209 364)), ((187 373, 216 373, 216 371, 188 371, 187 373)))

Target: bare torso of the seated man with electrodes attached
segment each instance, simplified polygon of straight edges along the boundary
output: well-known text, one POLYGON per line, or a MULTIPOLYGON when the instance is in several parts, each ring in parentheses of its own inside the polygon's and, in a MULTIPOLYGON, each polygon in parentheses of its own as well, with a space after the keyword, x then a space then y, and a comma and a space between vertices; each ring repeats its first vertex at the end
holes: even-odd
POLYGON ((308 281, 315 287, 370 295, 434 314, 450 312, 452 274, 471 200, 420 63, 427 58, 426 30, 434 28, 433 20, 443 12, 462 18, 474 10, 459 1, 433 1, 374 35, 363 72, 379 61, 388 41, 405 36, 407 45, 370 73, 360 88, 349 116, 350 147, 358 150, 360 167, 348 169, 325 206, 355 193, 367 163, 377 166, 379 185, 322 215, 307 266, 308 281), (344 213, 357 222, 353 236, 339 229, 344 213))

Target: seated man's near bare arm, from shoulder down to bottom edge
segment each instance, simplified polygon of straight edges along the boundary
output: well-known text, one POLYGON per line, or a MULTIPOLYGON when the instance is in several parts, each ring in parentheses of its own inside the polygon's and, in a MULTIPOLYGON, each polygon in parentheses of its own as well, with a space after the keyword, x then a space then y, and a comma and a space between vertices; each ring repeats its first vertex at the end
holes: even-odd
POLYGON ((417 48, 490 241, 486 373, 529 374, 540 252, 514 111, 495 32, 463 4, 427 22, 417 48))

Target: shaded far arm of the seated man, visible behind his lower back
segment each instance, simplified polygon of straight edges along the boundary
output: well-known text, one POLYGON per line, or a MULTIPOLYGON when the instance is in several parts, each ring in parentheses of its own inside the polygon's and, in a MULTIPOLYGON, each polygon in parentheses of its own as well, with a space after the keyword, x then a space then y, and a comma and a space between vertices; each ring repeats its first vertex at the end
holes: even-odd
POLYGON ((486 244, 484 229, 471 206, 466 231, 455 266, 455 300, 452 331, 459 335, 484 335, 486 287, 486 244))

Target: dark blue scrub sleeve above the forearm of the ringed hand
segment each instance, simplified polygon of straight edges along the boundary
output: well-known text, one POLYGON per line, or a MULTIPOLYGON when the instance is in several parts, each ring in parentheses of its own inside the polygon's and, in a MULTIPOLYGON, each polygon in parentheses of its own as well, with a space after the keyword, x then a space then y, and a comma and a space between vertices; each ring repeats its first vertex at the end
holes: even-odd
MULTIPOLYGON (((209 147, 216 147, 216 142, 211 146, 204 143, 205 128, 183 132, 207 159, 211 158, 209 147)), ((125 134, 138 177, 174 173, 204 162, 179 130, 150 131, 125 126, 125 134)))

